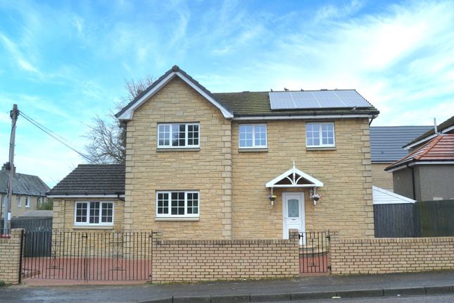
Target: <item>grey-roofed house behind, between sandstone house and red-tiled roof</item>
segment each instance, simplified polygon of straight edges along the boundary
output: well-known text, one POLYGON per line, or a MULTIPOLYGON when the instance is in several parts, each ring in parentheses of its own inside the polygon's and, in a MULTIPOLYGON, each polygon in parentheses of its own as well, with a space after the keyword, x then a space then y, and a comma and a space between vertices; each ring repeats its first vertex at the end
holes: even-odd
POLYGON ((433 126, 371 126, 370 156, 372 185, 393 191, 393 175, 384 169, 408 155, 403 145, 433 129, 433 126))

